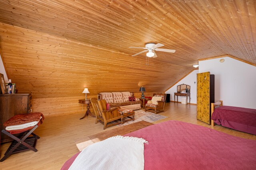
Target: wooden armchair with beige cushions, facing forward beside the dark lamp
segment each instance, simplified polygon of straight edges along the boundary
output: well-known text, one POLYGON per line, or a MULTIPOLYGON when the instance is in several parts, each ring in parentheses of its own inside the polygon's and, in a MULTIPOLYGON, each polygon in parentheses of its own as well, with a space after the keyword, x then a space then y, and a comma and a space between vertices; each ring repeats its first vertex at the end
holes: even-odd
POLYGON ((151 111, 155 114, 157 111, 164 111, 166 94, 153 94, 152 100, 145 105, 145 111, 151 111))

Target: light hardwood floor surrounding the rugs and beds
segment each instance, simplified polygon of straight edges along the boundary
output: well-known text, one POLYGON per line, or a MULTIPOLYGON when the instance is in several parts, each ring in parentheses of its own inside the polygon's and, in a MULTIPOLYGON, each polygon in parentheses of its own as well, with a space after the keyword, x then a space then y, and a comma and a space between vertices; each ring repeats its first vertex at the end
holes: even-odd
MULTIPOLYGON (((178 120, 216 129, 237 137, 256 140, 256 135, 235 131, 220 125, 212 127, 211 125, 198 121, 196 119, 195 105, 174 104, 171 102, 166 104, 165 112, 160 112, 159 114, 168 116, 168 118, 153 123, 178 120)), ((36 145, 38 152, 26 151, 13 154, 4 162, 0 162, 0 169, 60 169, 68 158, 78 152, 75 145, 77 139, 117 128, 113 126, 103 130, 101 123, 94 124, 94 117, 88 116, 79 120, 83 115, 84 113, 47 116, 44 123, 35 131, 41 137, 36 145)), ((9 145, 10 143, 1 145, 1 158, 9 145)))

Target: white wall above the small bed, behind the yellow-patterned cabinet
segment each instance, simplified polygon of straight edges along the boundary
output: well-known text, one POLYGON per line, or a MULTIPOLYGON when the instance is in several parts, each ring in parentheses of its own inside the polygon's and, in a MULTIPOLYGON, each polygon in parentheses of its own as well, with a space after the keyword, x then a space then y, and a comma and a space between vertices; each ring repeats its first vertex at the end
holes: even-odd
POLYGON ((256 109, 256 66, 230 57, 199 61, 199 72, 208 71, 215 75, 215 102, 256 109))

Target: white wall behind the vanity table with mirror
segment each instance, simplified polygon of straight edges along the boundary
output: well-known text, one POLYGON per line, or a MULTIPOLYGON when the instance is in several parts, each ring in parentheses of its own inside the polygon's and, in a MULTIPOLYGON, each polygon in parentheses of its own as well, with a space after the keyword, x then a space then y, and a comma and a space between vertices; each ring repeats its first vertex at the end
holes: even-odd
MULTIPOLYGON (((188 74, 186 77, 184 77, 182 80, 180 80, 177 84, 172 86, 169 90, 167 90, 165 93, 170 94, 170 100, 174 101, 174 93, 177 92, 177 86, 180 84, 187 84, 190 86, 190 98, 191 103, 196 104, 196 74, 198 73, 198 70, 192 71, 190 74, 188 74)), ((175 99, 177 101, 177 97, 175 99)), ((178 96, 178 101, 181 102, 180 96, 178 96)), ((188 101, 189 102, 189 101, 188 101)))

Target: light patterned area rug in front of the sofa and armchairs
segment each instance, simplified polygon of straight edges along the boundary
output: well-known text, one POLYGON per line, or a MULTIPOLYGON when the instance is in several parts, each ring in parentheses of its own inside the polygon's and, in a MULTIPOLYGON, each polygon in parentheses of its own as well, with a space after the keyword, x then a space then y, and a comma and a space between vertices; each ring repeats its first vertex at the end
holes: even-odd
MULTIPOLYGON (((125 126, 125 125, 129 125, 129 124, 132 124, 132 123, 135 123, 135 122, 138 122, 138 121, 147 121, 147 122, 150 122, 152 123, 153 121, 158 121, 158 120, 161 120, 161 119, 164 119, 166 118, 166 116, 163 116, 163 115, 159 115, 159 114, 155 114, 155 113, 152 113, 150 111, 144 111, 142 109, 140 110, 135 110, 135 115, 134 115, 134 121, 130 120, 130 121, 126 121, 126 119, 129 119, 127 117, 124 118, 124 124, 118 124, 116 126, 125 126)), ((116 123, 117 121, 113 121, 113 123, 116 123)))

